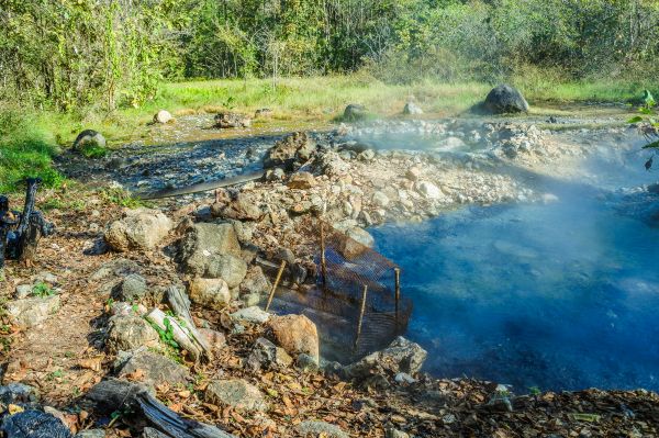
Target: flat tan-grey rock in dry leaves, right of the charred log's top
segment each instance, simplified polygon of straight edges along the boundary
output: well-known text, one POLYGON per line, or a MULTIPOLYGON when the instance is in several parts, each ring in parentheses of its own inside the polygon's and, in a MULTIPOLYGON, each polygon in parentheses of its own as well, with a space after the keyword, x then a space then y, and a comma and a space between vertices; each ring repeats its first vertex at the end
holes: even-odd
POLYGON ((205 390, 204 398, 217 406, 228 405, 248 412, 268 409, 259 389, 242 379, 212 381, 205 390))

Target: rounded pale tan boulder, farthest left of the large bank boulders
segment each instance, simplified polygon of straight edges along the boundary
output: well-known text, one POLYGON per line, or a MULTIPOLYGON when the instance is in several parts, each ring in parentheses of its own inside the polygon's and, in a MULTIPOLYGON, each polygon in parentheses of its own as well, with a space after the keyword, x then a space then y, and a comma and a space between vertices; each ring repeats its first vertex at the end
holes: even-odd
POLYGON ((105 242, 115 251, 154 249, 171 231, 174 223, 157 210, 135 209, 124 212, 105 232, 105 242))

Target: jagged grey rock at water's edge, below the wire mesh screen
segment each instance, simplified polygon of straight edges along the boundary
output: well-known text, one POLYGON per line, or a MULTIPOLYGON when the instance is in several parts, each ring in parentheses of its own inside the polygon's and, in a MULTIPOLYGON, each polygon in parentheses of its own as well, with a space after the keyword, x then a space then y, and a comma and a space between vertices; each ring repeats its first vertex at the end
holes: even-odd
POLYGON ((426 360, 427 351, 418 344, 399 336, 389 347, 376 351, 344 368, 347 379, 364 379, 371 374, 406 373, 415 375, 426 360))

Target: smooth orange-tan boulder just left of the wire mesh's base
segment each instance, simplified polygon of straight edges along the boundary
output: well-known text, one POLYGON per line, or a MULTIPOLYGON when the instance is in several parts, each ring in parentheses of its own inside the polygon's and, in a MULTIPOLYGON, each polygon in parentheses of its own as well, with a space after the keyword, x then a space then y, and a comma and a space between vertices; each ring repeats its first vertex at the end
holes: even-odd
POLYGON ((277 344, 291 355, 306 353, 320 360, 319 332, 304 315, 272 316, 268 327, 277 344))

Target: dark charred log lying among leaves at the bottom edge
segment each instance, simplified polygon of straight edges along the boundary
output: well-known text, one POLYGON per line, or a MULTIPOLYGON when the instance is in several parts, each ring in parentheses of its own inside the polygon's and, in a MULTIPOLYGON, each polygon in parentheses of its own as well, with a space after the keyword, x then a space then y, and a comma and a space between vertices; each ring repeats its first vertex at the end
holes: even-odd
POLYGON ((148 393, 146 386, 108 379, 93 386, 81 406, 98 416, 126 413, 122 420, 137 427, 153 427, 171 438, 236 438, 214 426, 180 417, 148 393))

